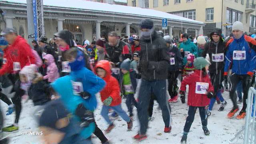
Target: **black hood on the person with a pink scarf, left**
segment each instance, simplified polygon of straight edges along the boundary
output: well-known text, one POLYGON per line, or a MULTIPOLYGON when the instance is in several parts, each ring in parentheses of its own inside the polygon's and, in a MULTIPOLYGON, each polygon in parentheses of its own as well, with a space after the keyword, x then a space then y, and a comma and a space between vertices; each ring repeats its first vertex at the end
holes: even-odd
POLYGON ((69 30, 62 30, 54 34, 57 38, 64 40, 70 48, 74 46, 73 35, 69 30))

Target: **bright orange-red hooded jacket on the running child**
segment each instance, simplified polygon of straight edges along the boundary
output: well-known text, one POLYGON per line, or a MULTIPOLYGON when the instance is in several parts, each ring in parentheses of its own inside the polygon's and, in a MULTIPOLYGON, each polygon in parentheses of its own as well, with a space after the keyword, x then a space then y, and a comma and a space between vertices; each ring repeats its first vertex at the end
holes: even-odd
POLYGON ((106 86, 100 92, 101 101, 103 102, 106 98, 111 96, 113 101, 110 106, 117 106, 121 104, 120 87, 116 78, 111 75, 109 61, 100 60, 95 66, 95 71, 97 68, 103 68, 106 71, 106 76, 103 78, 106 82, 106 86))

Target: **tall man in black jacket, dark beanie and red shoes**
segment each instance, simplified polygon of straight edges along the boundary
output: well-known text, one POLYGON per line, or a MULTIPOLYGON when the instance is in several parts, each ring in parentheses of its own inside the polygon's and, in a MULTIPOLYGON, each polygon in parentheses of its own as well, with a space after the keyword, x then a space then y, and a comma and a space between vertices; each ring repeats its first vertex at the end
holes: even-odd
POLYGON ((138 118, 140 120, 140 132, 134 139, 147 138, 148 105, 150 94, 156 96, 162 109, 165 124, 164 132, 171 131, 170 105, 166 97, 166 79, 168 78, 168 65, 170 58, 167 54, 166 42, 153 28, 153 21, 144 19, 141 23, 141 60, 138 71, 142 75, 142 82, 138 97, 138 118))

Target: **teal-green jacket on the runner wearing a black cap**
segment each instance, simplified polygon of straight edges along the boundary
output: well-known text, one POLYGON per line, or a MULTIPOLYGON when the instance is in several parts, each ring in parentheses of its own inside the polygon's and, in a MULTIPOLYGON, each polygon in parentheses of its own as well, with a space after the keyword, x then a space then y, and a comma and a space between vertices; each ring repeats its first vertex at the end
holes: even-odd
POLYGON ((183 48, 185 56, 183 58, 183 66, 186 65, 187 63, 187 55, 188 54, 194 54, 195 58, 197 56, 197 48, 196 45, 191 42, 190 39, 188 39, 186 42, 182 42, 182 44, 180 44, 180 49, 183 48))

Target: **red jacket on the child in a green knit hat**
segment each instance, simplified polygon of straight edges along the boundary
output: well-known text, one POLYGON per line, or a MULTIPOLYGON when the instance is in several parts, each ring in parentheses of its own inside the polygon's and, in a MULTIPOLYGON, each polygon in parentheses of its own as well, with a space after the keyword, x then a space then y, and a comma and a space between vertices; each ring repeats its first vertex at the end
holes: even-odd
MULTIPOLYGON (((202 76, 202 70, 195 70, 193 74, 185 78, 181 82, 180 90, 186 91, 186 85, 189 86, 188 90, 188 105, 189 106, 207 106, 210 103, 210 99, 206 94, 198 94, 196 93, 196 82, 204 82, 208 83, 207 92, 214 92, 214 88, 211 84, 210 78, 208 75, 205 77, 202 76)), ((198 90, 198 89, 197 89, 198 90)))

